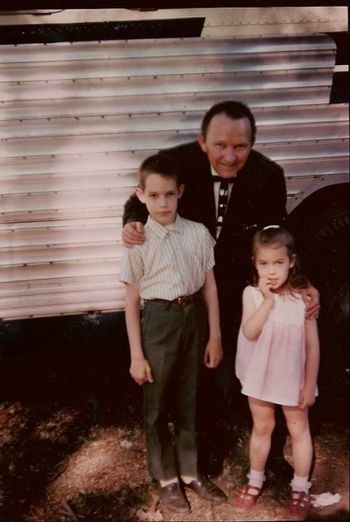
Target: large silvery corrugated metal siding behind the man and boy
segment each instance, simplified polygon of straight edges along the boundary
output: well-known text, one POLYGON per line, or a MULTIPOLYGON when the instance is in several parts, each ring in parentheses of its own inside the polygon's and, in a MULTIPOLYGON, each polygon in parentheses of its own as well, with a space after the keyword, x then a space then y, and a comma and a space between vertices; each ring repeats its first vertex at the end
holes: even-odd
MULTIPOLYGON (((123 204, 140 161, 194 139, 223 99, 252 107, 289 206, 348 171, 325 35, 2 46, 0 317, 122 309, 123 204)), ((340 176, 340 178, 339 178, 340 176)))

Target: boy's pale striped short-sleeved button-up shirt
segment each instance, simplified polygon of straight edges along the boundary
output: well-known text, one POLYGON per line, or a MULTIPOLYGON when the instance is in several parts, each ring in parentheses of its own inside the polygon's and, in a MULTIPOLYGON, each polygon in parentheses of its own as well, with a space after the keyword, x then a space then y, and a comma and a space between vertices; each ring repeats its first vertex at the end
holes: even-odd
POLYGON ((177 215, 163 226, 148 217, 145 242, 124 247, 120 280, 135 286, 142 299, 176 299, 197 292, 213 268, 215 240, 201 223, 177 215))

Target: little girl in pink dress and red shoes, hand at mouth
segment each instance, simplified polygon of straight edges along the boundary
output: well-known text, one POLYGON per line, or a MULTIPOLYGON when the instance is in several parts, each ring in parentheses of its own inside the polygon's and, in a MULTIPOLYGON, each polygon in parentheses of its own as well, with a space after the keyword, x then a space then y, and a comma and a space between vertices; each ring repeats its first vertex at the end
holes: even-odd
POLYGON ((305 319, 299 289, 307 285, 289 231, 277 225, 256 232, 252 261, 254 286, 243 291, 236 375, 253 417, 248 483, 234 507, 248 512, 256 504, 280 404, 292 441, 294 477, 289 519, 310 512, 312 441, 308 408, 317 395, 319 341, 315 319, 305 319))

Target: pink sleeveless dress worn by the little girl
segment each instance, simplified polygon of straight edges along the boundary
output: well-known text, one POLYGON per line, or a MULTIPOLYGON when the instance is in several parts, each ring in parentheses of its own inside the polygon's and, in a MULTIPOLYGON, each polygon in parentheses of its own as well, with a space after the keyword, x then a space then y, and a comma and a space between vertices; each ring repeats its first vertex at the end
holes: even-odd
MULTIPOLYGON (((256 306, 263 296, 248 287, 256 306)), ((236 375, 242 393, 285 406, 297 406, 304 385, 305 305, 299 294, 275 294, 275 306, 260 333, 251 341, 240 328, 236 355, 236 375)))

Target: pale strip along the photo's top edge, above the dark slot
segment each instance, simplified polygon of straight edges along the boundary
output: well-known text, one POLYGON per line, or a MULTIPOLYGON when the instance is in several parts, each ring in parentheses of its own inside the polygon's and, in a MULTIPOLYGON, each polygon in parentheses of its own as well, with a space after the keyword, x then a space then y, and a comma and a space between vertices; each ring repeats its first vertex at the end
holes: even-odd
MULTIPOLYGON (((298 3, 298 2, 296 2, 298 3)), ((299 2, 300 3, 300 2, 299 2)), ((209 7, 209 8, 172 8, 154 11, 130 9, 63 9, 45 10, 31 15, 14 12, 0 16, 0 24, 74 24, 82 22, 144 21, 168 20, 185 17, 205 18, 202 36, 238 36, 257 34, 297 34, 329 31, 347 31, 347 7, 342 6, 301 6, 292 7, 209 7)))

